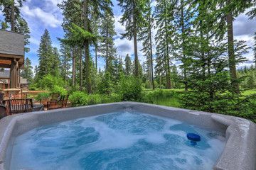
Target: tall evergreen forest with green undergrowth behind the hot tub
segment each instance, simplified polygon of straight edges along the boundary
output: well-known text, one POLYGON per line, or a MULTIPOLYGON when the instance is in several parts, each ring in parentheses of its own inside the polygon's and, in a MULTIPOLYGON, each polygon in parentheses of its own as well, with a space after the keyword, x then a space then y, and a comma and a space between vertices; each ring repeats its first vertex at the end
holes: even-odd
MULTIPOLYGON (((1 29, 25 35, 30 28, 20 8, 26 0, 0 2, 1 29)), ((241 13, 256 18, 255 0, 117 0, 125 27, 122 38, 134 42, 134 55, 117 53, 111 0, 63 0, 63 38, 53 47, 45 29, 38 65, 26 57, 21 76, 30 90, 70 94, 73 106, 138 101, 235 115, 256 122, 256 29, 254 46, 235 40, 233 21, 241 13), (143 48, 138 49, 142 42, 143 48), (254 51, 250 68, 238 69, 254 51), (146 61, 140 63, 138 51, 146 61), (154 53, 154 51, 156 51, 154 53), (105 59, 105 67, 97 65, 105 59), (180 64, 174 64, 178 61, 180 64)))

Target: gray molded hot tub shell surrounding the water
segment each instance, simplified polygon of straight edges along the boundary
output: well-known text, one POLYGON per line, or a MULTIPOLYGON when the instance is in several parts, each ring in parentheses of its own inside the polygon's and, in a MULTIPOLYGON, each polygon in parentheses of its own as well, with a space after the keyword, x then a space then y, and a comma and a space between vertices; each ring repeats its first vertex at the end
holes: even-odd
POLYGON ((228 115, 156 106, 146 103, 120 102, 64 108, 36 113, 10 115, 0 120, 0 169, 9 169, 12 144, 16 136, 42 125, 119 111, 136 111, 181 120, 225 133, 227 143, 215 170, 256 169, 256 125, 249 120, 228 115))

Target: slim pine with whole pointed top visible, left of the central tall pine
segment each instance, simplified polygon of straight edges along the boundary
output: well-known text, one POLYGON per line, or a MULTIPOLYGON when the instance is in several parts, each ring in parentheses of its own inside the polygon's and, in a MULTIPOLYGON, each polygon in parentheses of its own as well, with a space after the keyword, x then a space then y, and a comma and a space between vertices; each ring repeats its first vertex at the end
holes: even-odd
POLYGON ((114 16, 113 13, 105 12, 105 17, 102 18, 100 26, 100 36, 102 42, 99 47, 100 57, 106 60, 106 72, 109 71, 109 66, 112 65, 112 60, 117 57, 117 49, 114 47, 114 36, 117 33, 114 31, 114 16))

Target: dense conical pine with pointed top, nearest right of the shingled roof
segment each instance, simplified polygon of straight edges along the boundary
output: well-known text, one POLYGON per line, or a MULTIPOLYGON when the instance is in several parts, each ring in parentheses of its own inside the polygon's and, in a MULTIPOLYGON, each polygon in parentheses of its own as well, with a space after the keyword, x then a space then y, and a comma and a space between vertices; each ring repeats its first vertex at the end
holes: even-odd
POLYGON ((50 74, 50 69, 53 65, 52 57, 53 57, 53 47, 52 42, 50 40, 50 35, 48 30, 46 29, 41 37, 41 42, 39 45, 38 52, 38 78, 42 79, 44 76, 50 74))

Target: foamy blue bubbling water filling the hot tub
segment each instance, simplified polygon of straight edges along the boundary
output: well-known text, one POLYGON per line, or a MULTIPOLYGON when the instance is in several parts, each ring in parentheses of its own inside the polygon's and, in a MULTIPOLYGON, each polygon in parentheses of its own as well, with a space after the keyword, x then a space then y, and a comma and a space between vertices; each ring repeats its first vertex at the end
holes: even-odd
POLYGON ((225 137, 178 120, 109 113, 45 125, 16 137, 10 169, 211 169, 225 137), (188 132, 201 135, 192 146, 188 132))

